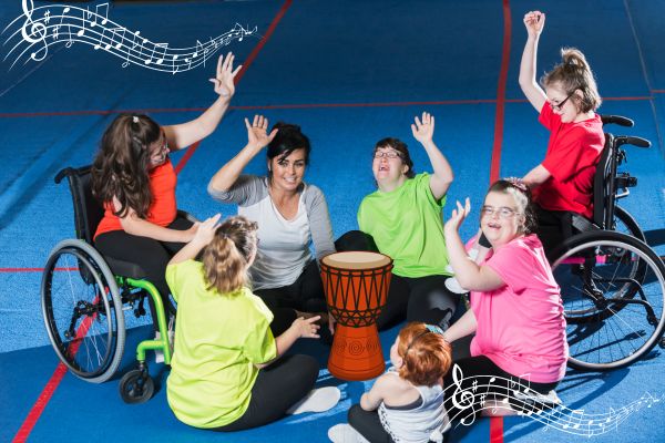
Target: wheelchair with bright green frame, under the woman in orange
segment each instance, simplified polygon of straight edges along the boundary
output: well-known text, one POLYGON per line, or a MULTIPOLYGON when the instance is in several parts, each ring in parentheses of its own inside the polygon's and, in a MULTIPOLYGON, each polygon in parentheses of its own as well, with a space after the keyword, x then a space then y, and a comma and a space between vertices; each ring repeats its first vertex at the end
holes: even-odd
MULTIPOLYGON (((136 264, 102 256, 93 246, 93 235, 103 208, 92 196, 91 168, 68 167, 55 176, 68 178, 74 206, 76 238, 60 241, 51 251, 41 281, 42 315, 49 339, 59 359, 78 378, 102 383, 113 377, 125 346, 125 310, 145 316, 151 297, 157 312, 160 339, 144 340, 136 349, 137 369, 120 381, 126 403, 143 403, 152 396, 154 382, 149 374, 145 352, 161 350, 171 364, 167 320, 158 290, 147 281, 136 264)), ((186 213, 178 212, 188 217, 186 213)), ((191 217, 188 217, 191 218, 191 217)), ((175 315, 170 301, 167 310, 175 315)))

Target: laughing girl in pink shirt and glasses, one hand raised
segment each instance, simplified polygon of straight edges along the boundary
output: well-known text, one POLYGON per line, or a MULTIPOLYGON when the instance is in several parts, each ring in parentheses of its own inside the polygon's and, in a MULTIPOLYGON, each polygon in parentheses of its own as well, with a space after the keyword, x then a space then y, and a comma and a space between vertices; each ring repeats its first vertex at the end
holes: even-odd
MULTIPOLYGON (((450 264, 464 288, 471 290, 471 309, 444 338, 452 342, 475 333, 470 358, 456 364, 462 378, 457 383, 451 371, 446 385, 469 389, 477 381, 474 404, 467 411, 448 405, 451 420, 462 419, 482 408, 482 394, 507 393, 513 406, 514 383, 546 395, 565 373, 567 343, 565 319, 559 286, 539 238, 533 234, 535 219, 529 188, 519 179, 495 182, 481 208, 480 227, 492 248, 487 258, 469 260, 459 227, 470 212, 458 202, 446 223, 446 243, 450 264), (480 388, 482 387, 482 388, 480 388)), ((459 375, 459 373, 458 373, 459 375)), ((451 395, 448 400, 452 400, 451 395)), ((467 404, 466 404, 467 405, 467 404)), ((459 404, 458 404, 459 406, 459 404)))

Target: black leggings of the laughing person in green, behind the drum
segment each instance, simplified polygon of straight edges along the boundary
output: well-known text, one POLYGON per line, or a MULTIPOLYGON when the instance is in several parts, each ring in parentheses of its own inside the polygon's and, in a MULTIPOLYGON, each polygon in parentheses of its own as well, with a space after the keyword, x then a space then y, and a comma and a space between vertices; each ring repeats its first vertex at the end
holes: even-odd
MULTIPOLYGON (((370 235, 351 230, 341 236, 335 246, 337 250, 377 251, 370 235)), ((386 306, 377 319, 379 330, 387 329, 402 320, 423 321, 448 329, 450 318, 460 296, 446 288, 448 276, 400 277, 392 275, 386 306)))

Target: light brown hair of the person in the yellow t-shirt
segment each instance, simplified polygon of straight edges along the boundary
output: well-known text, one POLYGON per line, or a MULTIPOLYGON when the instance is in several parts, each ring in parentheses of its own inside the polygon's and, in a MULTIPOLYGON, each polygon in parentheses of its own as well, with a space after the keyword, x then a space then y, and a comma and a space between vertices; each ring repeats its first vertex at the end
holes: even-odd
POLYGON ((227 218, 203 250, 203 267, 208 289, 219 293, 235 292, 248 286, 247 268, 256 253, 255 222, 243 216, 227 218))

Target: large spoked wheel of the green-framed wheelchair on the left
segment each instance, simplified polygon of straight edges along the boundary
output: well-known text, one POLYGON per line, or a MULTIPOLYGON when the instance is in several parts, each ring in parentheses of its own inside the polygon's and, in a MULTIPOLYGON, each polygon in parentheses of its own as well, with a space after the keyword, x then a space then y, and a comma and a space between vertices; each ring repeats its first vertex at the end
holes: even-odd
POLYGON ((115 278, 82 240, 63 240, 49 256, 41 282, 44 323, 60 360, 80 379, 109 380, 125 342, 115 278))

